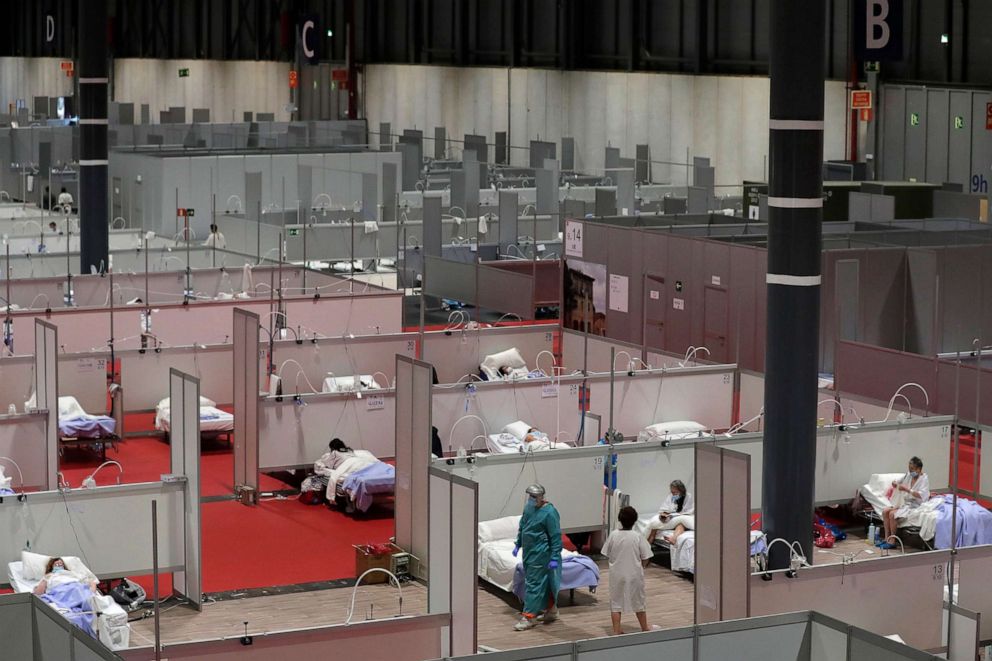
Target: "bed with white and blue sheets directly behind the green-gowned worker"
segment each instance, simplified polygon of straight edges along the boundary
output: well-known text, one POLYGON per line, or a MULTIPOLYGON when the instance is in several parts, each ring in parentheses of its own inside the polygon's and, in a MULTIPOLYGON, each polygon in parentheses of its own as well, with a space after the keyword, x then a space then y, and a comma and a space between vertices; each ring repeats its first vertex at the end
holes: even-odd
MULTIPOLYGON (((518 599, 524 597, 523 553, 513 557, 519 516, 506 516, 479 523, 479 577, 504 592, 512 592, 518 599)), ((599 567, 592 558, 575 551, 562 549, 561 589, 574 597, 575 590, 599 587, 599 567)))

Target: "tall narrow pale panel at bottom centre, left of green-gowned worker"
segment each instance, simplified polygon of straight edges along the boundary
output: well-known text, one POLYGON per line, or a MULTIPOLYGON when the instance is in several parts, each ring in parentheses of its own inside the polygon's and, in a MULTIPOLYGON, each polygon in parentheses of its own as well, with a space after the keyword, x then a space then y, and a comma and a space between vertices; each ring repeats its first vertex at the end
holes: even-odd
POLYGON ((451 626, 442 633, 444 656, 473 654, 478 649, 478 484, 432 467, 429 489, 428 612, 451 613, 451 626))

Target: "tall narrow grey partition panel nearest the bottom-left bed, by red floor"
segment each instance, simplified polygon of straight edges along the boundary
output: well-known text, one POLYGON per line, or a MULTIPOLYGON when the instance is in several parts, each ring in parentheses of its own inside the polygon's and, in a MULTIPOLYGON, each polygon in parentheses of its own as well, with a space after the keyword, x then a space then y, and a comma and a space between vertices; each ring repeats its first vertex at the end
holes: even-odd
POLYGON ((200 610, 203 576, 200 571, 200 380, 169 370, 169 445, 172 474, 186 478, 186 569, 172 575, 172 589, 200 610))

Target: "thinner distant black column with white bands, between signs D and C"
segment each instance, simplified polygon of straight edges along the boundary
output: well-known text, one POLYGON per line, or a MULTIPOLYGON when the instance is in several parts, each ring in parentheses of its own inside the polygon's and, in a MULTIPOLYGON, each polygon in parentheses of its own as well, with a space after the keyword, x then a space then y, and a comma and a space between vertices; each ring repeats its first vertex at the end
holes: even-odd
POLYGON ((79 0, 79 240, 81 273, 106 270, 110 250, 107 195, 107 1, 79 0))

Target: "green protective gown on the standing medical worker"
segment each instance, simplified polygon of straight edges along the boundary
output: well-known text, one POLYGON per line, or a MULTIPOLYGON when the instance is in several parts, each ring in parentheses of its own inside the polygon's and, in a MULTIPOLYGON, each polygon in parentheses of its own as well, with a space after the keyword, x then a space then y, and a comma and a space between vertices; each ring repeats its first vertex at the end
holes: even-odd
POLYGON ((536 616, 557 606, 561 586, 561 518, 551 503, 528 503, 520 518, 517 546, 524 554, 524 615, 536 616), (557 569, 548 569, 551 560, 557 569))

